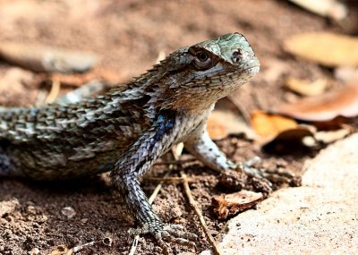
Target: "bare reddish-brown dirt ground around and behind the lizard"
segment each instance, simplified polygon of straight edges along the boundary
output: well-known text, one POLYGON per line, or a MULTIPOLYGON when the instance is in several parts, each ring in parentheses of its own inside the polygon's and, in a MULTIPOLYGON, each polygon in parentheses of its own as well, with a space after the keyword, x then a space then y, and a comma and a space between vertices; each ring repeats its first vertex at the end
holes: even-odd
MULTIPOLYGON (((149 69, 159 52, 168 54, 178 47, 238 31, 249 40, 261 62, 260 74, 237 94, 241 106, 250 113, 287 100, 287 92, 281 88, 286 75, 333 79, 330 70, 295 59, 283 51, 282 45, 287 37, 303 31, 358 34, 358 9, 353 6, 354 1, 351 3, 349 18, 338 24, 279 0, 2 0, 0 41, 89 50, 101 56, 100 67, 117 73, 118 79, 125 81, 149 69), (285 72, 268 79, 267 71, 277 63, 285 64, 285 72)), ((0 63, 0 74, 11 68, 0 63)), ((38 89, 38 86, 3 88, 0 105, 33 105, 38 89)), ((268 165, 278 160, 295 173, 300 172, 304 160, 311 155, 269 155, 261 152, 258 144, 241 138, 226 138, 218 141, 218 145, 236 161, 259 155, 268 165)), ((162 176, 166 168, 155 166, 149 176, 162 176)), ((191 184, 193 196, 211 234, 219 235, 225 231, 226 221, 217 220, 213 214, 211 198, 225 189, 217 186, 217 174, 197 161, 184 164, 183 168, 187 174, 197 176, 198 181, 191 184)), ((142 186, 150 194, 156 184, 149 179, 142 186)), ((188 231, 199 234, 197 251, 209 247, 181 184, 165 184, 154 208, 165 222, 184 225, 188 231)), ((106 175, 61 183, 0 180, 0 254, 30 254, 34 248, 39 254, 48 254, 58 245, 71 248, 106 236, 113 239, 110 247, 97 245, 80 254, 128 254, 132 241, 128 241, 126 232, 132 226, 132 218, 106 175), (66 207, 74 210, 73 217, 64 214, 66 207)), ((175 254, 188 251, 175 245, 173 250, 175 254)), ((145 236, 141 237, 137 254, 161 254, 161 250, 153 239, 145 236)))

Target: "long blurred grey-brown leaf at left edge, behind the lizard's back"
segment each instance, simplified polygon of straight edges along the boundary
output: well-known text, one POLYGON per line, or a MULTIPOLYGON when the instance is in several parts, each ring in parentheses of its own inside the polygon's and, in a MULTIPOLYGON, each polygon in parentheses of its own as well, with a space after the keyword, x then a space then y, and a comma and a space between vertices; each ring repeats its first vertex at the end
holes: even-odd
POLYGON ((0 56, 35 72, 86 72, 98 61, 89 52, 13 42, 0 43, 0 56))

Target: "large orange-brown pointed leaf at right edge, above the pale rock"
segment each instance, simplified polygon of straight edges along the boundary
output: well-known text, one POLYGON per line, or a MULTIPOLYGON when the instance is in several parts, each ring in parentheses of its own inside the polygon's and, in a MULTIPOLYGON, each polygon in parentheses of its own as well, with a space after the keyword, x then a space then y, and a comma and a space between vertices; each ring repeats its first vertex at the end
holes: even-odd
POLYGON ((272 112, 311 122, 330 121, 337 116, 354 117, 358 115, 357 85, 347 85, 317 97, 303 98, 295 103, 284 104, 272 112))

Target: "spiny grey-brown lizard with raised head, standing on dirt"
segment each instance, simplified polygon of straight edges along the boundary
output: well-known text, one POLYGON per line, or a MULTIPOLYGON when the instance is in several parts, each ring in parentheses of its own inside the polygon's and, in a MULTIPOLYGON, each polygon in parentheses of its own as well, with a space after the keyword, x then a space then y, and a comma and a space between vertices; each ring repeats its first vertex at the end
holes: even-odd
POLYGON ((132 234, 152 234, 165 253, 170 242, 195 246, 196 234, 159 219, 142 176, 179 142, 209 168, 237 169, 209 138, 207 119, 218 99, 259 70, 246 38, 230 33, 182 47, 95 98, 1 108, 0 175, 60 180, 110 172, 140 224, 132 234))

